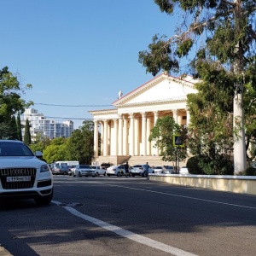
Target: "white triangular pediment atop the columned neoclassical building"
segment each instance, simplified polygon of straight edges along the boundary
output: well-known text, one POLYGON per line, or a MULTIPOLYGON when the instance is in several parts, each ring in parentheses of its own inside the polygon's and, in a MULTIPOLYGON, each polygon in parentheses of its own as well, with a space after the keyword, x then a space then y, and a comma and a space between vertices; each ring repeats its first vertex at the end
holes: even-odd
POLYGON ((167 102, 184 102, 189 93, 196 93, 194 84, 198 82, 192 77, 175 78, 162 73, 147 83, 137 87, 130 93, 113 102, 116 108, 165 104, 167 102))

